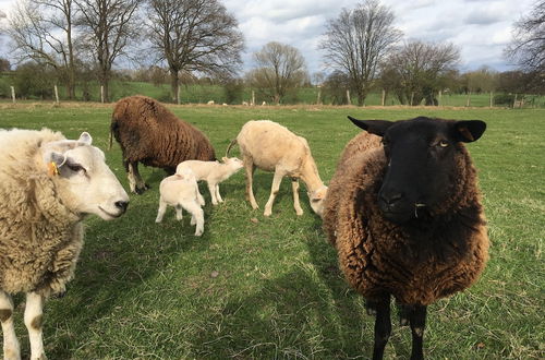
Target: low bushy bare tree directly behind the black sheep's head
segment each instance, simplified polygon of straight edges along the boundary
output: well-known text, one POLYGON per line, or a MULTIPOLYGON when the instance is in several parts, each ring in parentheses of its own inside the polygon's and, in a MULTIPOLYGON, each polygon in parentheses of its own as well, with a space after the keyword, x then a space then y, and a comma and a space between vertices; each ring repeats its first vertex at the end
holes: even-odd
POLYGON ((401 104, 419 105, 425 99, 426 105, 434 105, 444 75, 453 70, 459 59, 460 51, 452 44, 411 41, 388 58, 383 72, 389 82, 401 87, 398 92, 401 104))

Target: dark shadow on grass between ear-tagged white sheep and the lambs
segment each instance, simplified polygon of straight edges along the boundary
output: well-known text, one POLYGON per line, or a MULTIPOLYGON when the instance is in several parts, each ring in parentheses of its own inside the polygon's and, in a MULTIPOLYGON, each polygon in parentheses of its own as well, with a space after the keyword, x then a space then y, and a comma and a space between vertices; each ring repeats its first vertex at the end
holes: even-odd
POLYGON ((203 236, 194 237, 191 216, 185 213, 177 221, 169 211, 161 224, 155 224, 155 204, 130 207, 114 221, 86 224, 86 243, 66 296, 46 303, 45 344, 50 358, 72 358, 73 347, 83 346, 93 334, 93 323, 107 321, 131 289, 170 266, 180 253, 208 249, 206 224, 203 236))

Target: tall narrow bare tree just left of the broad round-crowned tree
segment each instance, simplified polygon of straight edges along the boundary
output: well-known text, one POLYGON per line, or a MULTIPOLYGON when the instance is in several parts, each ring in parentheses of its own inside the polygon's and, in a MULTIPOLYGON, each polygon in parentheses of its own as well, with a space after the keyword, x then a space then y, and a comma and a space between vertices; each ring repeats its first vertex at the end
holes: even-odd
POLYGON ((138 38, 135 27, 138 0, 73 0, 81 10, 77 21, 87 51, 98 65, 98 77, 104 86, 104 100, 109 101, 109 82, 113 61, 131 40, 138 38))

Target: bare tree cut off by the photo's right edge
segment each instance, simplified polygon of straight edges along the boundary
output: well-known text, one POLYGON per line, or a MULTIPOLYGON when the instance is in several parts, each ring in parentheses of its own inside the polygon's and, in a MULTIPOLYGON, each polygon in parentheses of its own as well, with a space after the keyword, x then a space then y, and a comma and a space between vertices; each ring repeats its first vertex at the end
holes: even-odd
POLYGON ((531 13, 514 23, 505 52, 525 71, 545 71, 545 1, 536 1, 531 13))

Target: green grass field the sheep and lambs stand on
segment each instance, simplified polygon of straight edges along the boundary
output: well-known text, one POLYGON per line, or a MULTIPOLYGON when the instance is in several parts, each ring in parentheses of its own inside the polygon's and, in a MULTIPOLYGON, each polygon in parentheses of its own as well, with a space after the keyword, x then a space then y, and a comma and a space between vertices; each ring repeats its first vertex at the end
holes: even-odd
MULTIPOLYGON (((545 357, 545 110, 171 106, 196 124, 222 155, 243 123, 270 119, 306 137, 322 179, 331 178, 359 118, 417 115, 487 122, 468 145, 480 172, 492 239, 491 260, 471 289, 429 307, 429 359, 545 357)), ((76 137, 89 131, 107 148, 111 106, 0 104, 0 128, 48 127, 76 137)), ((235 152, 237 153, 237 152, 235 152)), ((107 163, 128 189, 116 144, 107 163)), ((262 208, 244 200, 244 175, 220 185, 226 202, 209 203, 205 232, 193 237, 189 216, 154 223, 161 170, 142 168, 152 189, 132 195, 128 213, 86 224, 86 243, 62 299, 46 304, 50 359, 354 359, 370 357, 374 320, 338 271, 335 250, 301 191, 296 217, 283 181, 272 209, 263 206, 271 175, 256 171, 262 208)), ((303 190, 303 188, 302 188, 303 190)), ((15 298, 23 355, 28 339, 23 297, 15 298)), ((387 359, 407 359, 410 331, 393 322, 387 359)))

